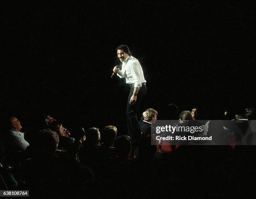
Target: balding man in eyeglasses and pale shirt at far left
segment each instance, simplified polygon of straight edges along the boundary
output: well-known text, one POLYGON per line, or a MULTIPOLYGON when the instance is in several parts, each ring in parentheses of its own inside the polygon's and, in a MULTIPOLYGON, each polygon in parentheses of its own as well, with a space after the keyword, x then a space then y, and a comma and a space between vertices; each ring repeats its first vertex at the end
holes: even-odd
POLYGON ((10 117, 10 147, 13 147, 14 151, 26 151, 29 143, 24 138, 24 133, 20 132, 22 126, 20 120, 16 117, 10 117))

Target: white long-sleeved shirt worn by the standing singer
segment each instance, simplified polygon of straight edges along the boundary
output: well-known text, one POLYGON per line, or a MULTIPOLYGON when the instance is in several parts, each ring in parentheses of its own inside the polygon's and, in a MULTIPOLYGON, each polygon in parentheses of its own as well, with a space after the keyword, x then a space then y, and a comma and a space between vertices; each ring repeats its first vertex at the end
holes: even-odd
POLYGON ((128 56, 122 63, 122 70, 120 70, 118 77, 125 77, 126 84, 134 84, 134 87, 141 87, 141 83, 146 82, 138 59, 133 56, 128 56))

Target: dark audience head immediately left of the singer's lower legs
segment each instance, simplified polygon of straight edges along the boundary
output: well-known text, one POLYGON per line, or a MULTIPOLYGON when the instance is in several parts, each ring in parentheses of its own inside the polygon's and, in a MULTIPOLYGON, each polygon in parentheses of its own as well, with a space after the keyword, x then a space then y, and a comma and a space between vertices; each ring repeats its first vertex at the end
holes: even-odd
POLYGON ((116 138, 114 146, 119 157, 127 158, 131 150, 131 138, 128 135, 122 135, 116 138))

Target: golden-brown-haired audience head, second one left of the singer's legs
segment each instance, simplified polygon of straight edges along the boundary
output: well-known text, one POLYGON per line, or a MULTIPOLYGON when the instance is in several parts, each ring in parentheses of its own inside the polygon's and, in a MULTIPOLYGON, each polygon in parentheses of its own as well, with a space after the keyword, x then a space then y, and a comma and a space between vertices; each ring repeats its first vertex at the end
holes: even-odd
POLYGON ((113 147, 116 135, 117 135, 117 128, 115 126, 106 126, 101 131, 101 138, 104 145, 108 147, 113 147))

